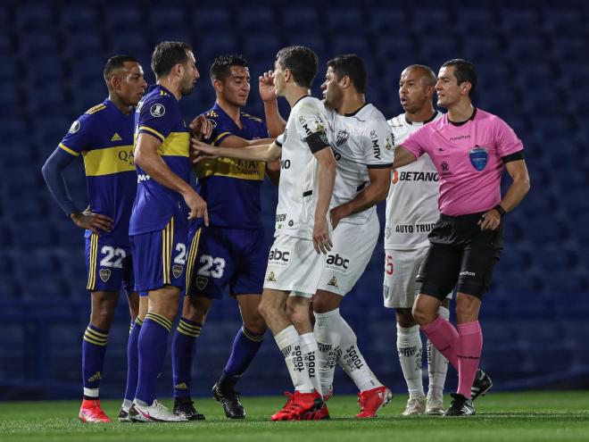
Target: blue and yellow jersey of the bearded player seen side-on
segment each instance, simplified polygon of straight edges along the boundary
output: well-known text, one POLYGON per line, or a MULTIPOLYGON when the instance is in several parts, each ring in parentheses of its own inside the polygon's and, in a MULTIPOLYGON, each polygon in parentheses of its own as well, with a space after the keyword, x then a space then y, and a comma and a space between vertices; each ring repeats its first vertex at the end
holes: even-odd
MULTIPOLYGON (((157 153, 164 163, 181 179, 190 182, 188 148, 190 137, 178 107, 178 100, 160 85, 155 86, 137 104, 135 139, 149 134, 162 144, 157 153)), ((187 220, 188 208, 184 198, 152 179, 139 166, 137 169, 137 197, 131 213, 129 235, 161 230, 174 215, 178 221, 187 220)), ((187 221, 186 221, 187 222, 187 221)))

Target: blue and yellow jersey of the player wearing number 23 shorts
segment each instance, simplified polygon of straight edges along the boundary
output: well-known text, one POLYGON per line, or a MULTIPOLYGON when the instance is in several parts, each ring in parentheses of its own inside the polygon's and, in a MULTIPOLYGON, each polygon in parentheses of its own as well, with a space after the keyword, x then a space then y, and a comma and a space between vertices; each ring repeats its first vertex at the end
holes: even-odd
MULTIPOLYGON (((227 113, 215 103, 206 114, 212 121, 211 138, 204 140, 219 146, 230 135, 245 139, 268 138, 266 124, 259 118, 240 113, 239 129, 227 113)), ((266 163, 231 158, 201 161, 196 165, 196 191, 203 196, 212 226, 233 229, 259 229, 261 223, 261 182, 266 163)), ((203 225, 193 221, 191 229, 203 225)))

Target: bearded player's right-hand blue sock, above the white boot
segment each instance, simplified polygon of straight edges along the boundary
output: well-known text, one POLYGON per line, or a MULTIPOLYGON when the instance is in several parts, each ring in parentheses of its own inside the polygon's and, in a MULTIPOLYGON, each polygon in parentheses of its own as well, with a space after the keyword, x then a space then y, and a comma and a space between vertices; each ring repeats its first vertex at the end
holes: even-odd
POLYGON ((135 398, 147 405, 153 404, 157 395, 157 377, 166 357, 170 329, 171 321, 167 318, 161 314, 147 313, 139 332, 139 375, 135 398))

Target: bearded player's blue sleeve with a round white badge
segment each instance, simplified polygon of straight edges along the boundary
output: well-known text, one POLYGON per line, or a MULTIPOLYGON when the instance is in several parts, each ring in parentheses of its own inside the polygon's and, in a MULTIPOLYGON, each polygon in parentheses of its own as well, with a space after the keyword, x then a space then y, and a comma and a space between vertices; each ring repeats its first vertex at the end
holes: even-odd
POLYGON ((175 98, 162 95, 141 106, 137 121, 137 133, 146 133, 159 139, 162 143, 174 129, 178 115, 175 98))

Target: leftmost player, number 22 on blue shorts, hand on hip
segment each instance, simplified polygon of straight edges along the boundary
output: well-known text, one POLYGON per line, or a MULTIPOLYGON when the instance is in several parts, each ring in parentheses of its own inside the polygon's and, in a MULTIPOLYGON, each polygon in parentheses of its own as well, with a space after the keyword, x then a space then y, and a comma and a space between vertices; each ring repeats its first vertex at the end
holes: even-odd
MULTIPOLYGON (((129 217, 137 188, 133 163, 133 107, 145 93, 143 69, 129 55, 116 55, 104 66, 109 96, 74 121, 43 166, 55 201, 79 228, 85 229, 90 323, 82 340, 84 398, 82 422, 110 422, 100 406, 104 354, 120 288, 129 296, 135 321, 138 295, 129 246, 129 217), (71 200, 62 171, 82 154, 89 206, 81 212, 71 200)), ((129 360, 129 370, 136 363, 129 360)))

